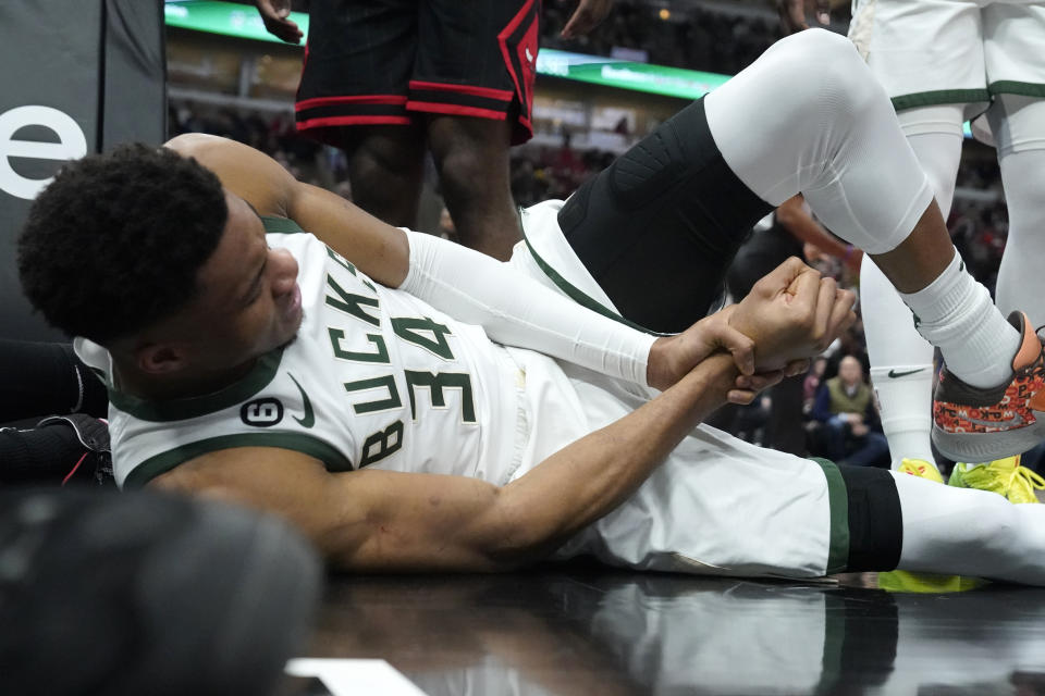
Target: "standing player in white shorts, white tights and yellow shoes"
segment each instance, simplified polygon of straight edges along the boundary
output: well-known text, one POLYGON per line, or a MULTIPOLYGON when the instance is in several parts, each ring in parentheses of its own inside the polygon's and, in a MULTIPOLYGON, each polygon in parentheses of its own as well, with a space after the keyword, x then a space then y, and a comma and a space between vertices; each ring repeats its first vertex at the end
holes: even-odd
MULTIPOLYGON (((802 0, 779 4, 786 28, 804 27, 802 0)), ((816 7, 821 22, 825 5, 816 7)), ((1004 313, 1033 308, 1028 312, 1030 322, 1045 324, 1045 308, 1040 306, 1045 275, 1038 269, 1045 258, 1045 58, 1041 50, 1045 3, 860 0, 849 37, 892 98, 945 219, 961 158, 962 124, 974 119, 976 126, 989 127, 1009 209, 997 306, 1004 313)), ((908 320, 910 313, 873 262, 864 262, 860 287, 871 380, 893 469, 939 481, 930 444, 933 348, 908 320)), ((995 380, 969 375, 964 382, 969 388, 945 381, 937 400, 946 401, 956 386, 976 393, 992 387, 995 380)), ((936 408, 937 422, 948 418, 936 408)), ((992 428, 1012 418, 1012 411, 985 411, 974 414, 966 426, 992 428)), ((1043 485, 1015 458, 986 467, 958 463, 956 471, 959 475, 952 484, 978 482, 978 487, 1024 502, 1034 502, 1033 488, 1043 485)))

